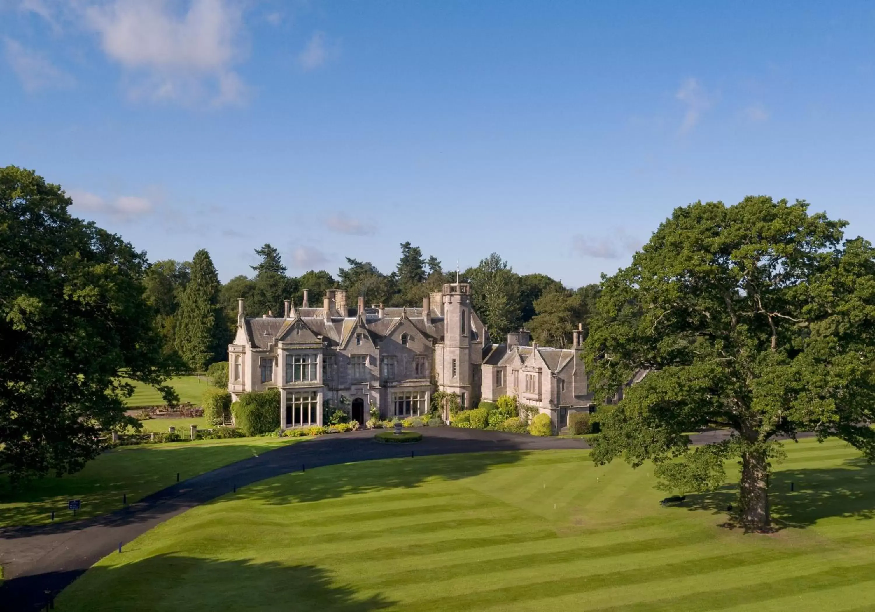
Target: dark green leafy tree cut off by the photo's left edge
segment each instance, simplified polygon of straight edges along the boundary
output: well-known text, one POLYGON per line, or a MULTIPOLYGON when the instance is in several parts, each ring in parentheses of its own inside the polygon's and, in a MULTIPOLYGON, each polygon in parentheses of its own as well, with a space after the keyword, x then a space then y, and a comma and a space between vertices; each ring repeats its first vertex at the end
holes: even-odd
POLYGON ((13 479, 81 469, 136 422, 125 379, 177 400, 145 254, 71 204, 31 170, 0 169, 0 469, 13 479))

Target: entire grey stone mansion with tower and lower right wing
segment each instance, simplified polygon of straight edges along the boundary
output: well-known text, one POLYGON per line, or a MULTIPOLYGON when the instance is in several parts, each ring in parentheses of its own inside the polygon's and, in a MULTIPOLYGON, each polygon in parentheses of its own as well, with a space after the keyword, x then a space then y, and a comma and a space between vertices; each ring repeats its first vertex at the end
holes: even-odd
POLYGON ((278 387, 281 428, 321 425, 324 402, 348 405, 360 423, 371 404, 383 419, 426 414, 440 390, 458 393, 463 407, 515 395, 558 429, 592 403, 581 335, 571 349, 531 344, 527 331, 492 344, 465 282, 444 284, 421 308, 366 307, 363 297, 350 308, 346 291, 333 289, 318 306, 304 291, 301 307, 286 300, 283 316, 245 317, 240 300, 228 391, 236 400, 278 387))

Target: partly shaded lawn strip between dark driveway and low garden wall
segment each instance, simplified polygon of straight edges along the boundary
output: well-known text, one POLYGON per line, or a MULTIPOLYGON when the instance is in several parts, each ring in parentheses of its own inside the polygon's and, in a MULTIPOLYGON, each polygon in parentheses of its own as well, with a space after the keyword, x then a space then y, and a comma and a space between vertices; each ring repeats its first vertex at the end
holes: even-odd
POLYGON ((81 499, 77 518, 104 514, 122 507, 124 493, 130 504, 170 486, 177 472, 185 480, 302 439, 306 440, 234 438, 120 447, 88 462, 72 476, 47 476, 15 490, 0 476, 0 527, 47 523, 52 510, 56 521, 70 520, 73 512, 66 509, 68 499, 81 499))

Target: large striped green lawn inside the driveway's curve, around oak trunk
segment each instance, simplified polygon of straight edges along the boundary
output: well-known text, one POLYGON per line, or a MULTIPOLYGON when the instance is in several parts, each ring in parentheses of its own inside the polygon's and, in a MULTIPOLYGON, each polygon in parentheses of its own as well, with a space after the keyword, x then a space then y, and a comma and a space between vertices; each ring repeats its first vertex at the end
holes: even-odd
POLYGON ((772 507, 795 526, 773 535, 719 526, 729 493, 663 508, 647 466, 586 451, 297 472, 159 525, 56 609, 875 609, 875 469, 840 442, 788 451, 772 507))

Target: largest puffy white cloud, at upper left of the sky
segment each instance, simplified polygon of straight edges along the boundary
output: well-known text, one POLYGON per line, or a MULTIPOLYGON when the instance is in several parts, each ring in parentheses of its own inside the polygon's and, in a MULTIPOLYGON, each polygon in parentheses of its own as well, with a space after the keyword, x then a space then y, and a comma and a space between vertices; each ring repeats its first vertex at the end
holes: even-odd
POLYGON ((242 10, 235 0, 113 0, 85 10, 103 52, 127 71, 130 94, 153 101, 214 105, 245 101, 233 70, 242 59, 242 10))

